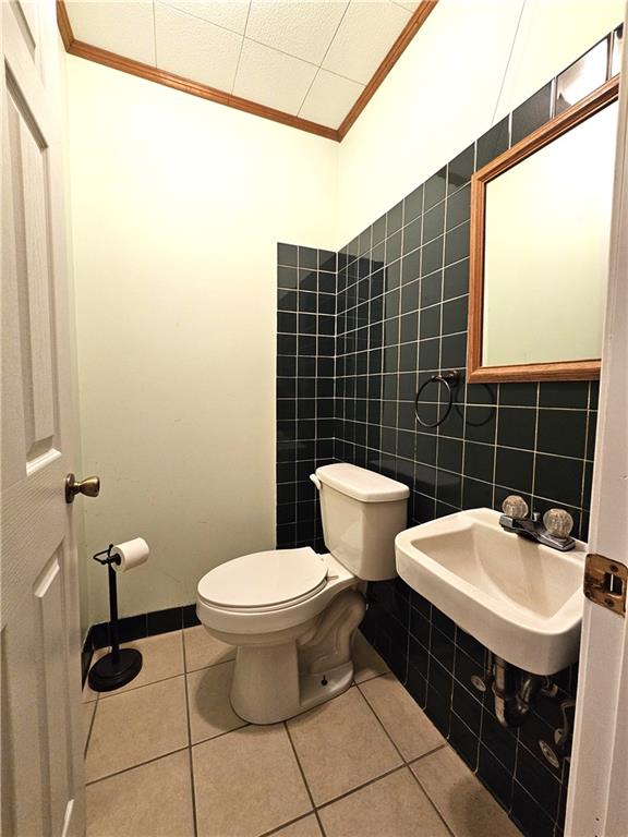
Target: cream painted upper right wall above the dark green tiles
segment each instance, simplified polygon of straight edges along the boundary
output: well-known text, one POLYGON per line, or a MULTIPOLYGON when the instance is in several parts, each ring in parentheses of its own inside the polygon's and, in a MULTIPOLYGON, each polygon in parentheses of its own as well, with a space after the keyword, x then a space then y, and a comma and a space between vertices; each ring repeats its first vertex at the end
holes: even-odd
POLYGON ((623 20, 624 0, 439 0, 340 145, 340 246, 623 20))

